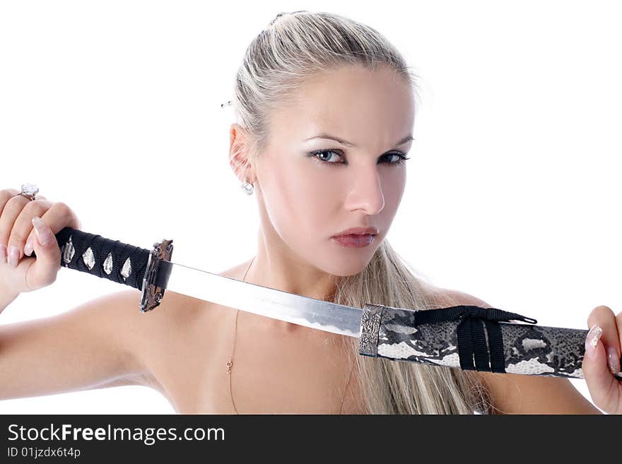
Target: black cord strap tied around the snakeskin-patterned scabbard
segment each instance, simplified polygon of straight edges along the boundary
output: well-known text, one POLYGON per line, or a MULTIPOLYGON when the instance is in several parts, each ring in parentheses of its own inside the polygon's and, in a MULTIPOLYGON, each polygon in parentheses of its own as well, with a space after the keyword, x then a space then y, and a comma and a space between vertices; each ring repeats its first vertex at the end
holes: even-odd
POLYGON ((538 322, 536 319, 502 311, 501 309, 461 304, 448 308, 416 311, 414 325, 452 321, 455 319, 460 320, 457 327, 460 367, 464 370, 493 372, 505 372, 503 337, 499 321, 538 322), (486 326, 486 332, 488 333, 490 353, 488 352, 488 347, 486 347, 484 326, 486 326), (490 362, 488 359, 489 354, 490 362))

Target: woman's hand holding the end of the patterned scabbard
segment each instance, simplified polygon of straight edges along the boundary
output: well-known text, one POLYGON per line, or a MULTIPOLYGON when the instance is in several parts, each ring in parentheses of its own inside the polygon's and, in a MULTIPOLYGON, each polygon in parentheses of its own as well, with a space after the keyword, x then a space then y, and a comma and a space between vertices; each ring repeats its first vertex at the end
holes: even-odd
POLYGON ((609 414, 622 414, 622 311, 616 316, 611 308, 599 306, 587 318, 583 378, 598 408, 609 414))

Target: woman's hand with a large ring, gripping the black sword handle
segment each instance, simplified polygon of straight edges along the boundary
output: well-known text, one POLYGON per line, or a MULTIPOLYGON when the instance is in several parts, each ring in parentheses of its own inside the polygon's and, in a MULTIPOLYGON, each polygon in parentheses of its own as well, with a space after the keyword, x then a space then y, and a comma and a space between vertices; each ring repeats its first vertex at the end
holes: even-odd
POLYGON ((0 190, 0 291, 6 292, 5 297, 17 297, 56 281, 61 250, 55 234, 64 227, 81 228, 66 204, 52 203, 40 195, 30 201, 16 189, 0 190), (35 219, 39 227, 33 225, 35 216, 40 218, 35 219), (25 256, 27 243, 36 257, 25 256))

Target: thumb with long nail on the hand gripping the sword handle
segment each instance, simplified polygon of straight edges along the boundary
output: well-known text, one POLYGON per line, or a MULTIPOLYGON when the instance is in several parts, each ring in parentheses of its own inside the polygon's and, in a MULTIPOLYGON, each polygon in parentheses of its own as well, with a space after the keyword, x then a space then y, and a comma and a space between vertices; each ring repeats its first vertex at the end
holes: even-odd
POLYGON ((26 286, 35 290, 50 285, 56 280, 61 267, 61 251, 54 232, 42 218, 36 216, 33 218, 33 228, 35 230, 33 249, 37 258, 35 263, 28 268, 26 286))

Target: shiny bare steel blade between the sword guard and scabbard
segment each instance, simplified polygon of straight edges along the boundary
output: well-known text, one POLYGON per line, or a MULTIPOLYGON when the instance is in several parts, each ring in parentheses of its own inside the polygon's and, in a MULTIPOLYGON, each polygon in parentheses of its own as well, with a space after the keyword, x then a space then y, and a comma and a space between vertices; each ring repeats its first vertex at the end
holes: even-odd
POLYGON ((359 308, 302 297, 171 261, 160 261, 157 285, 183 295, 298 326, 360 337, 363 310, 359 308))

